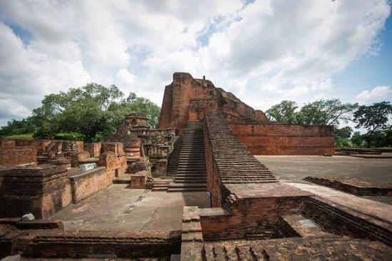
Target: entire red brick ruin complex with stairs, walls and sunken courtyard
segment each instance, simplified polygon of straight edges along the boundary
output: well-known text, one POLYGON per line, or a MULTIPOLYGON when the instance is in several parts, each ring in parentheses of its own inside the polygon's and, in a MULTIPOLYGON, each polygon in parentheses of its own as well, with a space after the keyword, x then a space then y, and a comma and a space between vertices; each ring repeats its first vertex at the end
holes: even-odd
POLYGON ((270 123, 262 111, 189 73, 174 73, 166 86, 159 129, 133 113, 103 143, 1 140, 0 145, 0 257, 391 259, 388 206, 362 198, 344 205, 314 195, 279 181, 254 157, 332 155, 331 127, 270 123), (9 151, 24 152, 11 161, 9 151), (86 170, 86 164, 93 168, 86 170), (135 193, 124 199, 125 190, 135 193), (148 198, 153 195, 158 197, 148 198), (107 198, 112 201, 100 205, 107 198), (165 199, 154 203, 158 198, 165 199), (167 213, 160 206, 151 209, 171 198, 169 205, 183 205, 169 206, 167 213), (117 205, 120 213, 112 215, 117 205), (96 208, 98 214, 88 213, 96 208), (26 213, 37 219, 22 220, 26 213), (177 214, 182 218, 172 219, 177 214), (102 215, 95 225, 105 230, 88 228, 93 215, 102 215), (86 217, 87 225, 73 224, 86 217), (112 230, 116 220, 121 230, 112 230), (169 222, 176 228, 161 229, 169 222))

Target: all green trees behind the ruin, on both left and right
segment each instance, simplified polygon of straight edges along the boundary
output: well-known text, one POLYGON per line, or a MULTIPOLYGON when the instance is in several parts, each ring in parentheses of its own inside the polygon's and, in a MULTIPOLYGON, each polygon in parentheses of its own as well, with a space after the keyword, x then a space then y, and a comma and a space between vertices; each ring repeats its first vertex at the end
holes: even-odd
MULTIPOLYGON (((89 83, 81 88, 45 96, 41 107, 33 110, 30 117, 11 120, 0 129, 0 138, 32 133, 33 138, 57 138, 103 140, 124 123, 129 113, 144 113, 151 128, 158 126, 160 108, 147 98, 129 93, 125 97, 117 86, 89 83)), ((390 147, 392 128, 389 120, 392 105, 388 101, 359 106, 358 103, 342 103, 339 99, 319 100, 301 108, 295 101, 282 101, 266 111, 271 121, 301 126, 334 126, 335 145, 353 147, 390 147), (350 126, 366 129, 366 133, 354 131, 350 126)))

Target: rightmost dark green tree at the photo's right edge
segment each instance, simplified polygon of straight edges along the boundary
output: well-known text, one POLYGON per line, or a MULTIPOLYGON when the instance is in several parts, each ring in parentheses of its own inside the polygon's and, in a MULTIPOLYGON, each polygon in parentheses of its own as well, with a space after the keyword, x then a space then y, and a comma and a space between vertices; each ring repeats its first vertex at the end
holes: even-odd
POLYGON ((392 114, 392 105, 389 101, 373 103, 371 106, 359 106, 354 113, 356 128, 366 128, 366 145, 371 147, 373 140, 383 131, 388 131, 391 126, 388 124, 392 114))

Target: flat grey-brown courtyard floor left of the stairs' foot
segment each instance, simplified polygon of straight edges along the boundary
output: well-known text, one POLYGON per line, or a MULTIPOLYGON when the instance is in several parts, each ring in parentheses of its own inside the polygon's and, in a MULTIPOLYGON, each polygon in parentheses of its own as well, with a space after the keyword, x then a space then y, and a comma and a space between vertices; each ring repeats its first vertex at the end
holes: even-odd
POLYGON ((184 205, 210 208, 210 198, 205 192, 166 193, 114 184, 49 220, 63 220, 65 230, 181 230, 184 205))

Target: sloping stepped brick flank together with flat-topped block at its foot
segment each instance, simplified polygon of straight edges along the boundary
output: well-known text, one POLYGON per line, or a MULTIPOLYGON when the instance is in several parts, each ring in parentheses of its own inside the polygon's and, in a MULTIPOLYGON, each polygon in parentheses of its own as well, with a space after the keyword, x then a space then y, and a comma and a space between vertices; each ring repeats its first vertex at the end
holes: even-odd
POLYGON ((206 238, 244 238, 274 227, 280 215, 299 211, 309 196, 278 183, 239 143, 220 112, 205 115, 205 150, 212 205, 228 211, 227 215, 200 215, 206 238))

